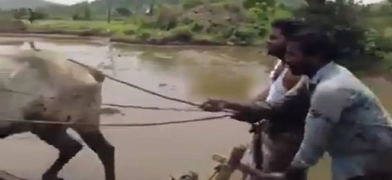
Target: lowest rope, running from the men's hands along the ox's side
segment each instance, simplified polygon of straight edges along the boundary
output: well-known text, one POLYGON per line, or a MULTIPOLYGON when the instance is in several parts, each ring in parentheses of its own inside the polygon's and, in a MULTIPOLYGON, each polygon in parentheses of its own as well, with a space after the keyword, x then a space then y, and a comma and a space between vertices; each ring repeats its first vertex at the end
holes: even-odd
MULTIPOLYGON (((230 115, 220 115, 220 116, 209 116, 205 118, 197 118, 191 120, 181 120, 181 121, 166 121, 166 122, 157 122, 157 123, 127 123, 127 124, 99 124, 99 126, 103 127, 146 127, 146 126, 159 126, 159 125, 169 125, 169 124, 184 124, 190 122, 201 122, 207 120, 215 120, 220 118, 229 117, 230 115)), ((0 119, 0 121, 8 121, 8 122, 23 122, 23 123, 31 123, 31 124, 61 124, 61 125, 92 125, 96 126, 96 124, 91 123, 74 123, 74 122, 56 122, 56 121, 42 121, 42 120, 15 120, 15 119, 0 119)))

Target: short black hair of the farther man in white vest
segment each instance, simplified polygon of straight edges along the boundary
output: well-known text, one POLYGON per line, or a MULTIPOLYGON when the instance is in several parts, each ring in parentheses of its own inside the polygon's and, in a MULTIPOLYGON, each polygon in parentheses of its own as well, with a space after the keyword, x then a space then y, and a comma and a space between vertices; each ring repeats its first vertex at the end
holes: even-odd
POLYGON ((275 20, 271 26, 280 29, 282 35, 287 38, 307 27, 308 23, 299 18, 285 18, 275 20))

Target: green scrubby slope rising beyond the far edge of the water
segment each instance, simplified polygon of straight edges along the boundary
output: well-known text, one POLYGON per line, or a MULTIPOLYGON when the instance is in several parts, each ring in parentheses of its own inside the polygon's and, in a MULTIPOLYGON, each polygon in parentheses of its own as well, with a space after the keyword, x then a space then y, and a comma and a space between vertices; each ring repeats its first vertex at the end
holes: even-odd
POLYGON ((257 2, 184 0, 181 4, 153 5, 151 14, 116 8, 110 24, 102 21, 104 13, 94 13, 92 2, 79 4, 72 17, 36 21, 29 24, 29 30, 110 34, 117 40, 149 44, 261 44, 272 20, 292 15, 273 0, 268 4, 257 2))

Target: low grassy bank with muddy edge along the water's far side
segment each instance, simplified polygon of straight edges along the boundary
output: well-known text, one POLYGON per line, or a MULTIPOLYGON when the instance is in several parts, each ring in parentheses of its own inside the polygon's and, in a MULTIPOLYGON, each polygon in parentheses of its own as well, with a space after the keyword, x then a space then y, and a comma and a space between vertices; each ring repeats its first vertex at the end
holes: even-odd
MULTIPOLYGON (((127 44, 149 45, 238 45, 255 46, 262 45, 261 39, 255 42, 232 42, 230 40, 217 40, 211 35, 197 34, 188 31, 186 27, 179 27, 171 31, 156 29, 137 29, 131 24, 122 22, 98 21, 68 21, 68 20, 41 20, 34 24, 26 24, 21 27, 20 22, 13 22, 15 27, 0 28, 3 36, 15 35, 65 35, 73 38, 109 38, 111 42, 127 44)), ((3 23, 2 23, 3 24, 3 23)))

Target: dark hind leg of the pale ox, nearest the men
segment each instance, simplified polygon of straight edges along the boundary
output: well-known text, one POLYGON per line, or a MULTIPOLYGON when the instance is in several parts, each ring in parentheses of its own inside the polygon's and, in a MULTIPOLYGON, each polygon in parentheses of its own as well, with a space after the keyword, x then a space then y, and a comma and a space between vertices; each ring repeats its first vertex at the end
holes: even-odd
POLYGON ((84 142, 98 155, 105 169, 105 180, 115 180, 114 146, 102 135, 99 129, 89 132, 78 131, 84 142))

